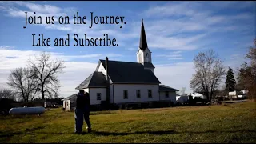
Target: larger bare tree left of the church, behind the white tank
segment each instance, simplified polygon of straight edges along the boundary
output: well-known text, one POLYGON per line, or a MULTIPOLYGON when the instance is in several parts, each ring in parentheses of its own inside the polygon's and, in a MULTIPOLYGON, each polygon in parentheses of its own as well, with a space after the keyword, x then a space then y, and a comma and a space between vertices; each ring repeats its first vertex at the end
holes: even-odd
POLYGON ((62 73, 65 68, 64 62, 58 59, 52 60, 50 54, 42 52, 40 56, 36 56, 33 61, 29 59, 29 67, 33 71, 31 77, 38 80, 38 90, 42 95, 42 100, 46 97, 53 98, 58 96, 60 82, 58 74, 62 73))

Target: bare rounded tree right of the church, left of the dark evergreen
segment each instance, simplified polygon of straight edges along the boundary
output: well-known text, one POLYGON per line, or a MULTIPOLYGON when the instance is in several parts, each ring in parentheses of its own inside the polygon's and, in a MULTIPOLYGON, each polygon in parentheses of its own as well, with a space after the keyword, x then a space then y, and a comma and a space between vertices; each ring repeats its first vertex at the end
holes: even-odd
POLYGON ((212 96, 222 77, 226 74, 222 60, 218 58, 214 50, 200 52, 194 58, 196 73, 190 81, 190 87, 201 92, 211 101, 212 96))

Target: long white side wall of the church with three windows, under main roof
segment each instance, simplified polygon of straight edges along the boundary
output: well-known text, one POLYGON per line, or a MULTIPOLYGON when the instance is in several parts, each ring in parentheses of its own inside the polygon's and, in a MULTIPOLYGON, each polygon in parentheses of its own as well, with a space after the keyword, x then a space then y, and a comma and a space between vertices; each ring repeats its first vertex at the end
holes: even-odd
POLYGON ((150 101, 159 101, 158 85, 114 84, 114 103, 150 101), (123 98, 123 90, 128 90, 127 99, 123 98), (141 91, 141 98, 137 98, 136 90, 141 91), (148 98, 148 90, 152 90, 152 98, 148 98))

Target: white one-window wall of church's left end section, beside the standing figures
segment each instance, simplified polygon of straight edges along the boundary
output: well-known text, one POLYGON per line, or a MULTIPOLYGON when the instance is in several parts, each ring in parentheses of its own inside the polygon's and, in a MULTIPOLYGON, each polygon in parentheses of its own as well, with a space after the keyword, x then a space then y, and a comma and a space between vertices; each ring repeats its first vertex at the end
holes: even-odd
POLYGON ((106 101, 106 88, 89 88, 90 105, 99 105, 102 101, 106 101), (97 100, 97 93, 101 93, 102 99, 97 100))

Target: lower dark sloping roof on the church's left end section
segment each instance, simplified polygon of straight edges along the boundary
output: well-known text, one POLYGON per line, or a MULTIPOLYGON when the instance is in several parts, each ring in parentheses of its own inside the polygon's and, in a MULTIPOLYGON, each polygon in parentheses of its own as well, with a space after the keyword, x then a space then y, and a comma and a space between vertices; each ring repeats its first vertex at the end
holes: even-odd
POLYGON ((87 87, 106 87, 107 82, 104 74, 102 72, 94 71, 93 74, 90 74, 86 80, 84 80, 78 87, 75 89, 81 90, 87 87))

